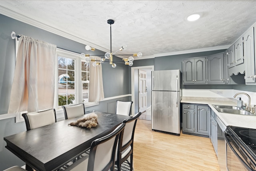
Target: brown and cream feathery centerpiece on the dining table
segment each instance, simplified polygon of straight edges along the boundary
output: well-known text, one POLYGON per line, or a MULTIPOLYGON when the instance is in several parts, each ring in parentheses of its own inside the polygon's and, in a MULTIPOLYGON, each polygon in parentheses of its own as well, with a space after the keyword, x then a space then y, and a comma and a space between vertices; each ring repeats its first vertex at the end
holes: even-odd
POLYGON ((77 119, 76 122, 71 122, 68 125, 70 126, 78 126, 78 127, 96 127, 98 125, 98 115, 94 112, 86 115, 84 118, 77 119))

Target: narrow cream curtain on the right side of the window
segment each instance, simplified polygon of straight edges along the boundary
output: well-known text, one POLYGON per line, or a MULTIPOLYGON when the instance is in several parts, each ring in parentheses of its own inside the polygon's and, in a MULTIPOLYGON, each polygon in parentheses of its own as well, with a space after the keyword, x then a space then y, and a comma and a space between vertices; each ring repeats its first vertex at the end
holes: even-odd
MULTIPOLYGON (((99 60, 98 56, 90 56, 92 60, 99 60)), ((102 81, 102 66, 92 66, 93 62, 90 62, 90 85, 89 85, 89 102, 101 101, 104 99, 103 81, 102 81)))

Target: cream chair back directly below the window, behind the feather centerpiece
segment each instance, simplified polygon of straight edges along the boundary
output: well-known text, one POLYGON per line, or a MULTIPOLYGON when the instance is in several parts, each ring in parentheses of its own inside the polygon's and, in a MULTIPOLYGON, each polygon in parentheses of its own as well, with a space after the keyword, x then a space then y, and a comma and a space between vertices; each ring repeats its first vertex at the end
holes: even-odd
POLYGON ((62 106, 65 119, 82 116, 85 114, 84 103, 62 106))

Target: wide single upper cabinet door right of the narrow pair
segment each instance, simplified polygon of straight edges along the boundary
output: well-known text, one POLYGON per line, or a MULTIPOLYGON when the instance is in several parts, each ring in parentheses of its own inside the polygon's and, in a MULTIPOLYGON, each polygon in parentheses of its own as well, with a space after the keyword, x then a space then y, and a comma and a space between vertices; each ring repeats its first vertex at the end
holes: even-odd
POLYGON ((208 84, 224 83, 223 55, 224 53, 220 53, 207 57, 208 84))

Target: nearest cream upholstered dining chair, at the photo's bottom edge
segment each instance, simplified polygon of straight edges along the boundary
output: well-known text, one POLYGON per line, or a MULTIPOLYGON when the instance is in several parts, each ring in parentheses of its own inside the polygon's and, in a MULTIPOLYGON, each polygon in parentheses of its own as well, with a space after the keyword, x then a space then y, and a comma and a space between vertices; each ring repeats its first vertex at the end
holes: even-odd
POLYGON ((90 154, 70 165, 65 171, 114 171, 118 137, 124 126, 125 123, 122 123, 110 134, 94 140, 90 154))

